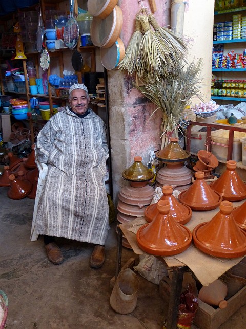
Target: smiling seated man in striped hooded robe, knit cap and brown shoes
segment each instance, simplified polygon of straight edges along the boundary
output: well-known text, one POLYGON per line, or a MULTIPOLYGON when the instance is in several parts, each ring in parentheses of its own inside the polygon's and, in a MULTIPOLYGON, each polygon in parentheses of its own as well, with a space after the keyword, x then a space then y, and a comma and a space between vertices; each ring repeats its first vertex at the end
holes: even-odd
POLYGON ((96 244, 90 266, 101 267, 109 229, 104 177, 109 157, 106 125, 88 108, 84 84, 69 89, 70 106, 60 107, 39 132, 36 155, 47 163, 45 188, 38 202, 36 229, 44 235, 49 260, 63 261, 54 237, 96 244))

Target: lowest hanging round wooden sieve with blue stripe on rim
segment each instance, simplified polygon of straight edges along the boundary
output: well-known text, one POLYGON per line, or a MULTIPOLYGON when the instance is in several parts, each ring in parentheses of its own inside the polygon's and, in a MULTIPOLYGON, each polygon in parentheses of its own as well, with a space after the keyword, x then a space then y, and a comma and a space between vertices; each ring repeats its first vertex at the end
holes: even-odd
POLYGON ((112 47, 100 48, 101 64, 107 70, 117 68, 122 58, 125 56, 125 46, 120 38, 118 38, 112 47))

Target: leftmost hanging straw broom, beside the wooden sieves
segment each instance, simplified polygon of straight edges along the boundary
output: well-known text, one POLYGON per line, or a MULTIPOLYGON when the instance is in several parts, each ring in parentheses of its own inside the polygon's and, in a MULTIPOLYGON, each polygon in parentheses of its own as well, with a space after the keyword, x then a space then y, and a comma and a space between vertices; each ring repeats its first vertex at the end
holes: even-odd
POLYGON ((135 31, 128 44, 125 57, 118 65, 121 70, 126 71, 129 75, 134 74, 137 71, 137 68, 141 70, 142 67, 141 57, 139 57, 138 53, 142 41, 142 36, 143 35, 140 15, 137 14, 135 19, 135 31))

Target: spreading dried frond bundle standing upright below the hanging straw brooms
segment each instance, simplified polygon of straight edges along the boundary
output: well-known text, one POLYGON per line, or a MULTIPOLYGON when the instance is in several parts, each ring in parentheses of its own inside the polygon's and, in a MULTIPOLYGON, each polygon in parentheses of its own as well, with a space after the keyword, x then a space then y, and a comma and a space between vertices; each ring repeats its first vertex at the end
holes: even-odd
MULTIPOLYGON (((152 80, 149 83, 135 87, 140 90, 157 108, 162 111, 161 136, 162 148, 165 143, 165 135, 179 130, 180 118, 185 114, 185 107, 193 96, 200 96, 201 78, 199 72, 202 59, 193 61, 177 69, 178 74, 170 73, 161 80, 152 80)), ((155 113, 152 113, 152 115, 155 113)), ((151 115, 151 116, 152 116, 151 115)))

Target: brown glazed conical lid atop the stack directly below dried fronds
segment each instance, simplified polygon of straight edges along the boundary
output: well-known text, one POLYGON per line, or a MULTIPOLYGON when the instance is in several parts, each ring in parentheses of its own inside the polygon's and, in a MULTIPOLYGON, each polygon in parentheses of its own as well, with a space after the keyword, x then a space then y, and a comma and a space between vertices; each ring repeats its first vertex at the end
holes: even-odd
POLYGON ((162 162, 185 162, 191 154, 183 150, 178 144, 178 138, 171 137, 166 148, 157 151, 155 157, 162 162))

